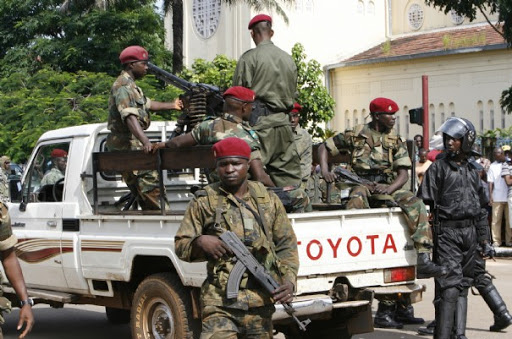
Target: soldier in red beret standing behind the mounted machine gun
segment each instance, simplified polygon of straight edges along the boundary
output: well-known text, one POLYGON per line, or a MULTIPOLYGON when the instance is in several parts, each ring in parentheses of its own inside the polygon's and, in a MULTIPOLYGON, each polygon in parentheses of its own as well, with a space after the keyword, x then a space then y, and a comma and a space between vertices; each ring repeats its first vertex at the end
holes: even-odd
MULTIPOLYGON (((146 98, 135 80, 143 78, 148 68, 148 52, 140 46, 129 46, 119 55, 124 69, 110 91, 108 102, 107 137, 109 151, 142 150, 151 152, 152 144, 144 134, 150 123, 149 111, 181 110, 183 103, 159 102, 146 98)), ((156 171, 122 173, 131 193, 136 196, 142 209, 157 210, 160 206, 160 189, 156 171)))

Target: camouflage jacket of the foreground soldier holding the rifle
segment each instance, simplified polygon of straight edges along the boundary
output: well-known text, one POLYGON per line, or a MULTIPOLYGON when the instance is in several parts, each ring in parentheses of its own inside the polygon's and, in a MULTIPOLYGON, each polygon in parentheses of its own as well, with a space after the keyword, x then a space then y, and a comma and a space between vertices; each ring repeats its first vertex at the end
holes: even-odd
POLYGON ((258 202, 261 204, 260 207, 264 211, 263 219, 271 234, 270 244, 254 215, 232 194, 223 190, 220 183, 207 186, 206 191, 207 194, 190 202, 174 238, 176 254, 181 260, 208 261, 208 277, 201 289, 203 304, 245 310, 273 304, 270 294, 259 286, 254 278, 248 278, 248 273, 242 277, 238 298, 227 299, 227 281, 234 263, 226 258, 192 258, 192 245, 194 240, 203 234, 220 235, 226 230, 232 231, 243 240, 276 281, 287 280, 295 285, 299 270, 297 238, 283 204, 274 193, 267 192, 262 184, 249 181, 249 192, 244 195, 243 200, 255 211, 258 211, 258 202), (220 208, 219 218, 216 218, 217 208, 220 208), (220 227, 215 227, 217 219, 220 227))

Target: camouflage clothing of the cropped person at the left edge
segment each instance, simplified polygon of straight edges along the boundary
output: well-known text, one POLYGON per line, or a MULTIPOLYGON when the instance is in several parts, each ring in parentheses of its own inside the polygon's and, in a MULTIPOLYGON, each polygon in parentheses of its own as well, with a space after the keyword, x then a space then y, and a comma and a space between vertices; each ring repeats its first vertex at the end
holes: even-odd
MULTIPOLYGON (((9 201, 9 196, 6 194, 8 192, 6 186, 7 177, 5 176, 3 170, 0 171, 0 252, 2 252, 16 245, 18 239, 16 239, 16 236, 12 234, 11 218, 7 209, 7 202, 9 201)), ((0 324, 3 324, 5 322, 3 313, 11 312, 11 302, 8 299, 2 297, 1 283, 2 275, 0 275, 0 324)), ((2 337, 1 329, 0 337, 2 337)))

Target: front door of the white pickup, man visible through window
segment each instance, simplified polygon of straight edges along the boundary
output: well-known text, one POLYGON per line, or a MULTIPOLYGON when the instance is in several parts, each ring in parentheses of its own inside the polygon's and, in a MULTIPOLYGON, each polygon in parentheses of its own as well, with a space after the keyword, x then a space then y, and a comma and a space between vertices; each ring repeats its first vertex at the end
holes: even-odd
POLYGON ((31 287, 67 287, 61 236, 69 147, 69 141, 39 145, 23 178, 22 201, 9 208, 18 237, 16 253, 31 287))

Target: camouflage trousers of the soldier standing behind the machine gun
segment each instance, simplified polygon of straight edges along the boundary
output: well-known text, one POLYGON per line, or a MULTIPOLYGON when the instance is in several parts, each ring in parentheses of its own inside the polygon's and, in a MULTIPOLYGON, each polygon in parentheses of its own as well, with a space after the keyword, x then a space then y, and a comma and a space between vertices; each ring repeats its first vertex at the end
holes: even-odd
MULTIPOLYGON (((123 172, 122 177, 130 192, 137 197, 143 210, 160 210, 160 188, 158 172, 134 171, 123 172)), ((164 190, 164 208, 169 209, 169 203, 164 190)))

